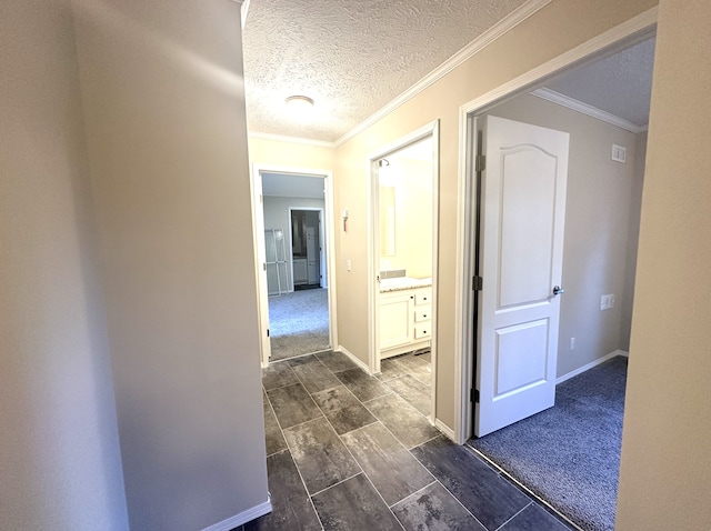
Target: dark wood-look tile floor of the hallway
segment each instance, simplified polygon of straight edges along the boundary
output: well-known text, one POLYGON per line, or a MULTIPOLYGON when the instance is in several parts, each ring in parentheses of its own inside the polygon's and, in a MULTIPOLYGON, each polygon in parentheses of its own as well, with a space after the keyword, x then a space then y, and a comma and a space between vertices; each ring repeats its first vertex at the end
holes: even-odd
POLYGON ((433 428, 429 354, 370 377, 340 352, 262 371, 272 512, 238 530, 568 528, 433 428))

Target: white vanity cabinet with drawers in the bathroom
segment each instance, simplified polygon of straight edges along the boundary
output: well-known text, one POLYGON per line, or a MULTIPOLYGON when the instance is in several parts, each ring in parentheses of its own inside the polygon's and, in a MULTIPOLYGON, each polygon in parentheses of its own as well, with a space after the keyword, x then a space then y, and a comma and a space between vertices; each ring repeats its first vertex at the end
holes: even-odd
POLYGON ((430 345, 431 298, 431 287, 380 293, 381 358, 430 345))

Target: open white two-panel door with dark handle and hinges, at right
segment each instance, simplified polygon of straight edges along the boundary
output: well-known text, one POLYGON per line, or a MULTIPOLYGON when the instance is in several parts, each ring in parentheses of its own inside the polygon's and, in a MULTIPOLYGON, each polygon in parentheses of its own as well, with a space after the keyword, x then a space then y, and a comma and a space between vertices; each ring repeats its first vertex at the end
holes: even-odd
POLYGON ((553 405, 569 134, 478 119, 481 174, 474 434, 553 405))

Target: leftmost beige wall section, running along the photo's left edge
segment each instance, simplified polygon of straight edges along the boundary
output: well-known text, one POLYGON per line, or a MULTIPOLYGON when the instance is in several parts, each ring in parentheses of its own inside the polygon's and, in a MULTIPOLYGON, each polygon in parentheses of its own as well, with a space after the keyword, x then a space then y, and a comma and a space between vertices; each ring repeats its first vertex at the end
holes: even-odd
POLYGON ((127 530, 68 0, 0 16, 0 528, 127 530))

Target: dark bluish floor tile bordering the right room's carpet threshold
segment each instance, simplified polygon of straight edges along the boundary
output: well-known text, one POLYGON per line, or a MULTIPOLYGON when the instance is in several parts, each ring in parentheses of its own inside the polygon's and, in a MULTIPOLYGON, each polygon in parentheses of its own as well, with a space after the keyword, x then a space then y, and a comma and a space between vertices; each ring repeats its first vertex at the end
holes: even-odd
POLYGON ((498 529, 531 502, 467 447, 439 437, 412 453, 487 529, 498 529))

